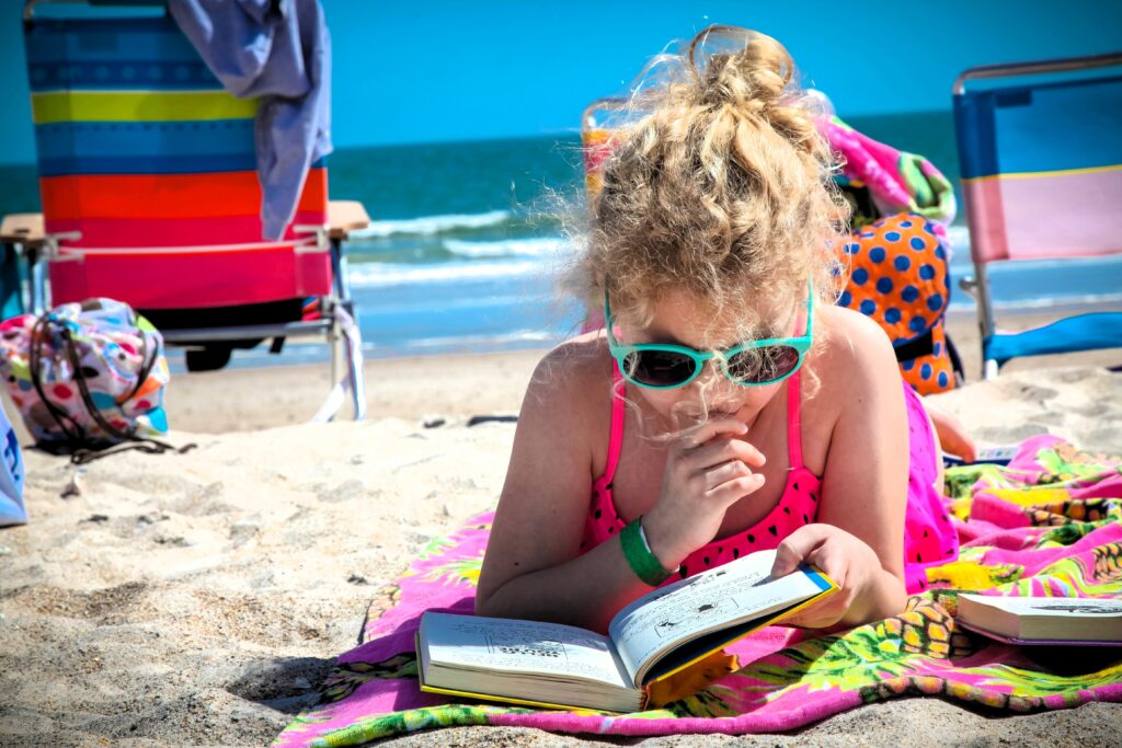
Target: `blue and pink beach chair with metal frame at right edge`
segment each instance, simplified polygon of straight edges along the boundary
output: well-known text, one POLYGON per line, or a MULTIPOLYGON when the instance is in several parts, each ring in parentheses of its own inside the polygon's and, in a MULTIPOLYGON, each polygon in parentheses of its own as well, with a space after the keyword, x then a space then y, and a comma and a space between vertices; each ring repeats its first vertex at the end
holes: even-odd
MULTIPOLYGON (((955 82, 984 378, 1011 359, 1122 347, 1122 312, 999 332, 992 262, 1122 253, 1122 54, 992 65, 955 82)), ((1120 278, 1122 288, 1122 278, 1120 278)))

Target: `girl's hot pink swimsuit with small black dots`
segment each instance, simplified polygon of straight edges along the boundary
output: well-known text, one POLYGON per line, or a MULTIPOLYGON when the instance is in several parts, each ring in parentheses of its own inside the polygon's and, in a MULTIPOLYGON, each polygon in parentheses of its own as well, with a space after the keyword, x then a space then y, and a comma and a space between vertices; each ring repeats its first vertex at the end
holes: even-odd
MULTIPOLYGON (((803 525, 816 521, 821 478, 802 463, 802 436, 799 427, 799 375, 790 377, 787 388, 788 451, 791 469, 779 504, 766 517, 747 528, 691 553, 681 566, 681 576, 696 574, 711 566, 719 566, 753 551, 776 547, 780 542, 803 525)), ((614 371, 616 388, 623 388, 623 377, 614 371)), ((934 482, 938 475, 938 455, 935 435, 923 410, 923 404, 911 387, 903 384, 910 432, 910 463, 908 471, 908 508, 904 519, 904 569, 908 592, 923 589, 925 569, 945 563, 958 554, 958 535, 950 525, 950 517, 942 506, 934 482)), ((616 511, 611 499, 611 479, 619 463, 623 447, 625 406, 622 397, 613 398, 611 431, 605 473, 592 484, 592 500, 585 526, 581 553, 617 535, 627 524, 616 511)))

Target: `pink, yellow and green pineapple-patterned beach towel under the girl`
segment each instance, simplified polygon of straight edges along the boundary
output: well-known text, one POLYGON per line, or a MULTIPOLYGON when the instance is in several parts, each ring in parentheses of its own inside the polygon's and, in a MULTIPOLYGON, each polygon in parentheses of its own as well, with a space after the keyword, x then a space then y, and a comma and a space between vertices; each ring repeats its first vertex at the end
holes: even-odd
MULTIPOLYGON (((770 627, 697 674, 700 691, 633 714, 452 703, 421 693, 413 634, 425 609, 470 612, 491 514, 434 541, 374 601, 366 644, 343 654, 320 703, 278 746, 356 746, 453 724, 563 732, 773 732, 859 704, 937 695, 1011 712, 1122 702, 1122 648, 1018 648, 960 629, 957 593, 1122 598, 1122 459, 1055 436, 1024 442, 1006 468, 948 472, 958 560, 929 570, 907 611, 844 634, 770 627), (1094 649, 1094 656, 1080 652, 1094 649)), ((697 685, 696 683, 693 684, 697 685)))

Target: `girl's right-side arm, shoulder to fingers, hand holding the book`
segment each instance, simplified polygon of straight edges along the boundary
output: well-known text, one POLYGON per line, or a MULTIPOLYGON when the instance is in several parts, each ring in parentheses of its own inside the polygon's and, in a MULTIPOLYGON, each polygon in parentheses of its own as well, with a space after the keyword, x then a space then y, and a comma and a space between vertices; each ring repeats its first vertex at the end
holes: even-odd
POLYGON ((797 622, 813 628, 857 626, 903 610, 903 535, 909 433, 903 385, 884 332, 839 310, 821 363, 822 391, 838 417, 822 474, 818 523, 779 548, 775 573, 799 561, 818 565, 842 591, 797 622))

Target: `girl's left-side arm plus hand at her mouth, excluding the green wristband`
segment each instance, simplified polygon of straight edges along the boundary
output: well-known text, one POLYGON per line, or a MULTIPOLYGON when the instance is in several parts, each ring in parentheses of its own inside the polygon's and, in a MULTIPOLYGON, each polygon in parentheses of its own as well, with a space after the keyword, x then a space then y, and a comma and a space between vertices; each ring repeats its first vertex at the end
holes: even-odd
MULTIPOLYGON (((546 357, 523 401, 476 612, 604 631, 617 610, 651 588, 632 571, 618 537, 578 555, 591 499, 590 435, 606 432, 608 412, 599 405, 605 398, 588 394, 611 376, 606 363, 565 355, 562 349, 546 357)), ((763 484, 752 470, 763 455, 735 438, 744 433, 734 418, 716 418, 670 446, 660 496, 643 518, 665 569, 708 543, 728 506, 763 484)))

